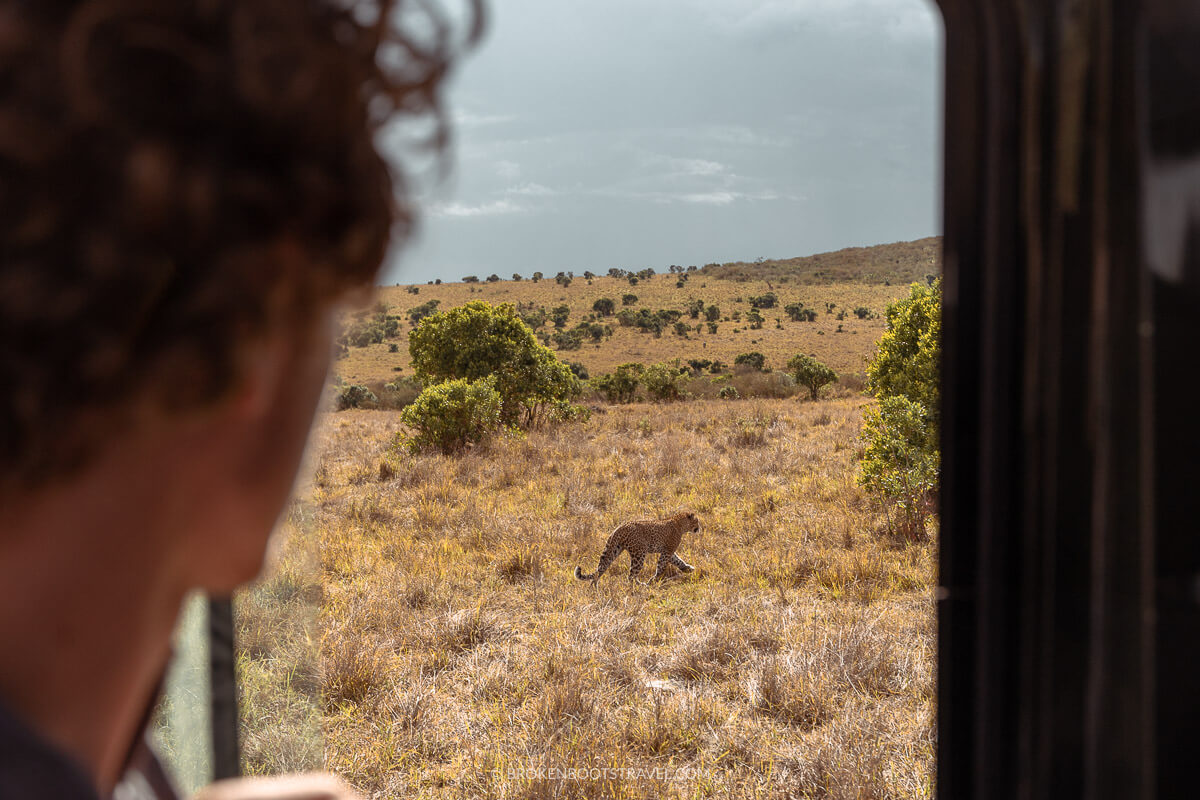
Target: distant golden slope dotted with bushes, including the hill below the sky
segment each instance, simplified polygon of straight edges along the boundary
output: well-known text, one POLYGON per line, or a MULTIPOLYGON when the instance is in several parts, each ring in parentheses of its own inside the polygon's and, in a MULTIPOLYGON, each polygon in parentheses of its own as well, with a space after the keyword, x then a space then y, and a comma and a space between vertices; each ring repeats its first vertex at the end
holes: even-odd
MULTIPOLYGON (((534 282, 527 273, 521 281, 504 275, 498 276, 499 281, 488 282, 488 276, 479 275, 474 276, 478 283, 384 287, 378 293, 378 301, 388 314, 403 319, 397 335, 366 347, 349 347, 338 359, 335 372, 347 384, 378 385, 410 375, 408 313, 433 300, 439 302, 440 311, 484 300, 546 312, 566 306, 570 309, 566 329, 589 319, 611 325, 611 337, 601 342, 584 341, 577 350, 558 353, 565 361, 582 363, 592 374, 611 372, 626 362, 673 359, 708 359, 730 365, 739 354, 757 350, 774 368, 782 368, 790 357, 804 353, 839 373, 860 375, 874 343, 883 333, 883 309, 907 294, 912 281, 923 282, 924 276, 941 272, 940 249, 941 240, 932 237, 797 259, 713 264, 678 275, 660 270, 636 284, 607 275, 588 279, 582 272, 575 272, 568 285, 557 283, 554 275, 547 273, 534 282), (767 293, 776 295, 778 305, 760 309, 762 326, 751 327, 748 321, 750 299, 767 293), (624 305, 626 294, 636 295, 637 300, 624 305), (677 335, 671 325, 655 336, 620 325, 614 315, 594 314, 593 305, 602 297, 613 300, 616 312, 623 308, 684 312, 690 302, 703 301, 706 306, 716 306, 720 317, 715 320, 715 332, 709 330, 703 315, 694 319, 685 313, 682 321, 692 327, 686 337, 677 335), (812 321, 790 319, 784 308, 797 302, 817 312, 816 318, 812 321), (869 311, 870 315, 859 318, 854 314, 857 308, 869 311)), ((554 330, 548 320, 538 329, 547 335, 554 330)))

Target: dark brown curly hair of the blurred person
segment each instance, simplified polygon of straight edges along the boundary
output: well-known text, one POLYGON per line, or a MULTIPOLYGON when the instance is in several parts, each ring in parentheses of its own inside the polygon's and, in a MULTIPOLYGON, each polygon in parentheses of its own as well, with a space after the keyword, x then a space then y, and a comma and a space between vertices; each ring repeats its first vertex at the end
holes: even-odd
POLYGON ((467 1, 0 0, 0 493, 373 283, 414 222, 379 134, 430 119, 443 151, 467 1))

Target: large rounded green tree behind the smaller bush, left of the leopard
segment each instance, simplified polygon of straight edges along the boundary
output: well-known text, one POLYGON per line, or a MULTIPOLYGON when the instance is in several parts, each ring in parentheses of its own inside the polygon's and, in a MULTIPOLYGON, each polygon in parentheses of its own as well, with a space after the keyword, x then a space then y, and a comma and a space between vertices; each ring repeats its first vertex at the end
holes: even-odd
POLYGON ((496 375, 504 425, 536 425, 542 411, 577 397, 571 371, 516 314, 511 305, 482 301, 427 317, 408 338, 413 371, 426 386, 496 375))

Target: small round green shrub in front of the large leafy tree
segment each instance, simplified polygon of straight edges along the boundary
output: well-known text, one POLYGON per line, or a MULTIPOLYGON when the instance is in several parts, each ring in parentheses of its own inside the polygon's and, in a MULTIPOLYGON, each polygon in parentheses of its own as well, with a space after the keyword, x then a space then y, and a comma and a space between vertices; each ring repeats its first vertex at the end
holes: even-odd
POLYGON ((457 452, 500 429, 500 407, 494 375, 427 386, 401 411, 400 419, 413 429, 410 435, 401 434, 401 443, 413 451, 457 452))

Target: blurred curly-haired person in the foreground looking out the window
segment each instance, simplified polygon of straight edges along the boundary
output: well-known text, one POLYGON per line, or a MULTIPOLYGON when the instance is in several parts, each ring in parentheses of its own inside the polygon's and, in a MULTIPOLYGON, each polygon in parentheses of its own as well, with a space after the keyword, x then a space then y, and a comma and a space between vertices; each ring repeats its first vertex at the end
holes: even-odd
POLYGON ((0 798, 156 769, 180 602, 262 569, 336 312, 412 229, 380 130, 444 148, 455 32, 386 0, 0 0, 0 798))

